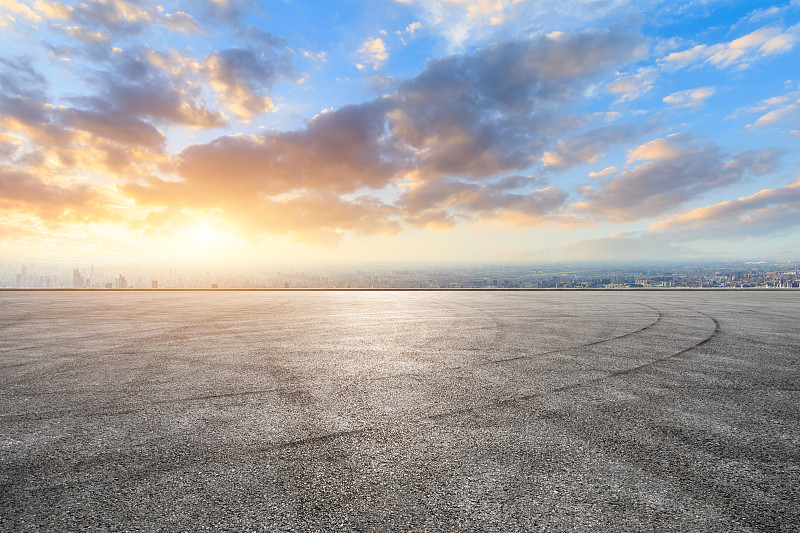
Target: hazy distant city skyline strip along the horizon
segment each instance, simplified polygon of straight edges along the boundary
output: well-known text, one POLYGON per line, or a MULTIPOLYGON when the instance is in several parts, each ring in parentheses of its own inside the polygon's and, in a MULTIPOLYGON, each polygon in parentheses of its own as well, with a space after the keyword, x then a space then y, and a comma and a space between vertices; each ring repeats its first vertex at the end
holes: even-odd
POLYGON ((0 264, 0 288, 799 288, 800 261, 675 263, 663 266, 498 265, 336 267, 314 270, 154 268, 130 265, 0 264))

